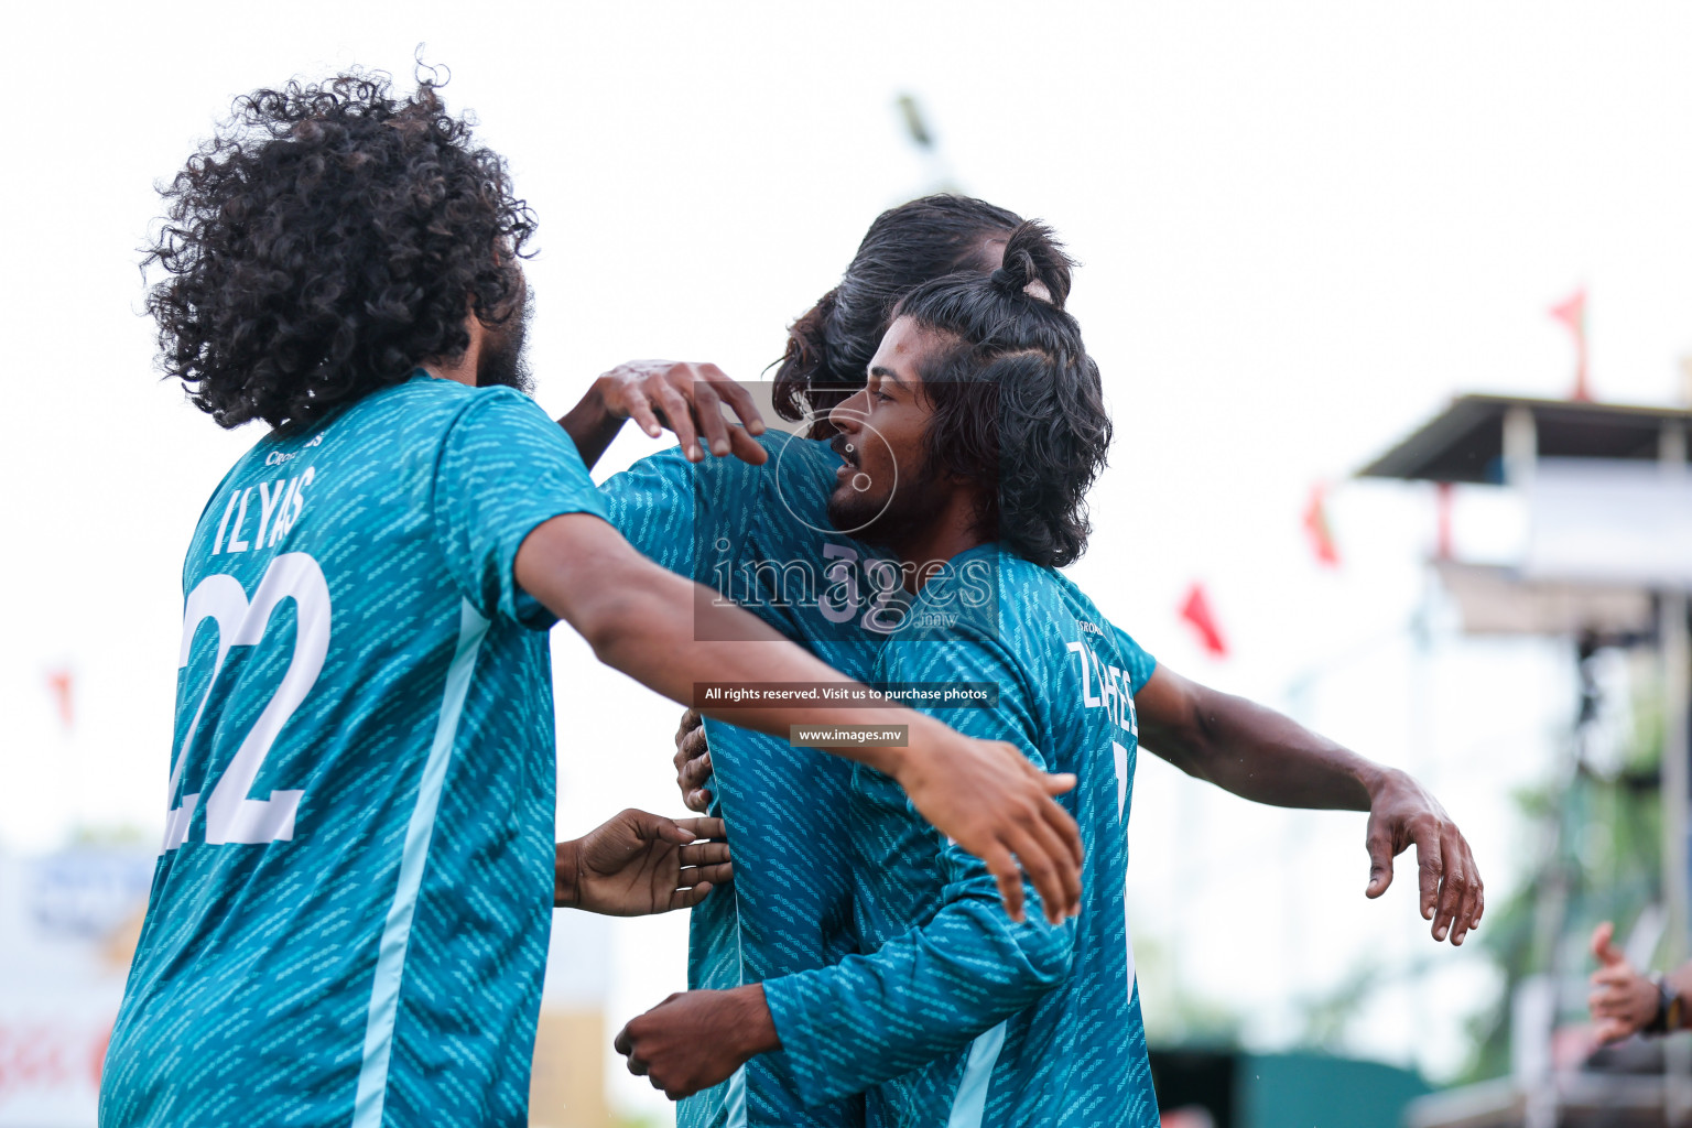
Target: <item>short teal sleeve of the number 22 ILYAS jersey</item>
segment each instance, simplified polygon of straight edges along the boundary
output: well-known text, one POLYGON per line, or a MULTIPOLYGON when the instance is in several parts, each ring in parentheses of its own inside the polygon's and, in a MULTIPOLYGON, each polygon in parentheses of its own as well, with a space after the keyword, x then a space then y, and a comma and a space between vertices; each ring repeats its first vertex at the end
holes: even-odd
POLYGON ((518 548, 567 512, 606 516, 575 443, 531 399, 479 391, 442 440, 431 485, 435 539, 484 619, 547 629, 557 619, 518 587, 518 548))

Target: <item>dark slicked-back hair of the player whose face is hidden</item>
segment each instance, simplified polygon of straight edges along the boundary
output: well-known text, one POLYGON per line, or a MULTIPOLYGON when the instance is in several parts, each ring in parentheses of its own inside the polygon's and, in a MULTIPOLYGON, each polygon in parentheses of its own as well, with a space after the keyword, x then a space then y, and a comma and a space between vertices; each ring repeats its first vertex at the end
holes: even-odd
MULTIPOLYGON (((1007 238, 1022 216, 971 196, 924 196, 876 216, 841 276, 792 328, 772 399, 783 419, 827 413, 865 384, 888 315, 912 286, 956 271, 986 272, 988 238, 1007 238)), ((831 433, 824 421, 817 435, 831 433)))

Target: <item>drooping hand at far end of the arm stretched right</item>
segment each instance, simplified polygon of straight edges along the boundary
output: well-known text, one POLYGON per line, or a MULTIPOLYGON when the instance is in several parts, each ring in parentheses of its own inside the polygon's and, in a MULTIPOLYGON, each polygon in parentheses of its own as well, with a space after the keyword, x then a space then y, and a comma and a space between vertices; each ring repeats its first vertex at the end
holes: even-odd
POLYGON ((1433 939, 1450 937, 1460 945, 1480 927, 1486 886, 1469 841, 1440 802, 1403 771, 1384 769, 1369 786, 1369 886, 1381 896, 1393 884, 1393 859, 1416 846, 1416 879, 1421 888, 1421 918, 1433 922, 1433 939))

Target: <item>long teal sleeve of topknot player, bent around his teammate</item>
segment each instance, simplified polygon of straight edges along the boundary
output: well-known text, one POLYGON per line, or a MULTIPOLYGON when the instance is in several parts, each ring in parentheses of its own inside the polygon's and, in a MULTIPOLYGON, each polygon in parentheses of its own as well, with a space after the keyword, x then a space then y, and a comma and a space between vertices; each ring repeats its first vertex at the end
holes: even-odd
MULTIPOLYGON (((961 732, 1017 744, 1044 768, 1034 734, 1034 698, 995 643, 890 643, 876 680, 998 682, 998 709, 929 710, 961 732)), ((868 768, 854 771, 856 788, 897 785, 868 768)), ((854 825, 853 835, 875 842, 931 842, 934 852, 907 864, 939 869, 939 910, 927 923, 888 940, 868 956, 848 956, 832 967, 768 979, 770 1015, 788 1065, 814 1101, 831 1101, 907 1074, 963 1050, 1063 983, 1074 952, 1074 922, 1051 927, 1039 896, 1024 883, 1027 920, 1014 923, 998 901, 998 884, 978 857, 926 827, 905 803, 873 810, 904 825, 854 825), (926 835, 920 834, 922 829, 926 835)), ((887 859, 865 857, 888 868, 887 859)), ((892 866, 897 866, 895 857, 892 866)), ((888 879, 920 884, 920 876, 888 879)), ((873 908, 871 908, 873 912, 873 908)))

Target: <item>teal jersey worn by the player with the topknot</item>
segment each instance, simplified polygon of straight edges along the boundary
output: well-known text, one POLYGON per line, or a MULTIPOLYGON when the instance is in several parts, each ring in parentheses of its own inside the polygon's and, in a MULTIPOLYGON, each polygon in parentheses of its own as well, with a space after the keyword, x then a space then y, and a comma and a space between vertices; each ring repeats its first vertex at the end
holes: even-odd
POLYGON ((1066 577, 988 545, 953 560, 880 653, 876 680, 997 683, 995 709, 926 707, 961 732, 1073 771, 1059 802, 1086 847, 1081 915, 1012 923, 986 868, 885 775, 854 766, 861 956, 765 983, 783 1052, 817 1101, 870 1089, 871 1125, 1156 1126, 1123 905, 1139 722, 1154 661, 1066 577), (971 567, 997 604, 954 599, 971 567))

